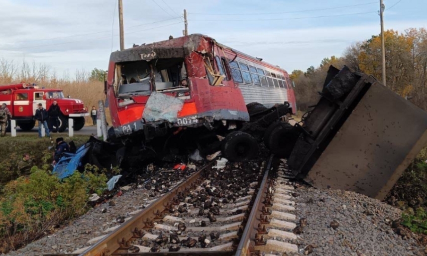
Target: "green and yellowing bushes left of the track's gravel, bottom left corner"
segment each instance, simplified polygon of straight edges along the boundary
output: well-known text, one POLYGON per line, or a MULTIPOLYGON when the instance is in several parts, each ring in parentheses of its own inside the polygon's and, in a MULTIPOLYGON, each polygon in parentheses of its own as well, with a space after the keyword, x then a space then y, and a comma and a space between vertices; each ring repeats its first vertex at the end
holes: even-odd
POLYGON ((29 177, 9 182, 0 199, 0 253, 85 213, 89 195, 101 194, 106 181, 104 174, 88 171, 60 181, 46 168, 33 167, 29 177))

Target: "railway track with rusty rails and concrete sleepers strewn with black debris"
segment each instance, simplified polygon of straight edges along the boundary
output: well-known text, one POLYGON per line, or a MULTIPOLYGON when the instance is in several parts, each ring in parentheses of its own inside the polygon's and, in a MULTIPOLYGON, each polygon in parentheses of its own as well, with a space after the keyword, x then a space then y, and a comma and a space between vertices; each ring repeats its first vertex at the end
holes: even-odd
MULTIPOLYGON (((210 164, 91 246, 68 254, 107 255, 282 255, 298 252, 293 186, 285 162, 273 156, 255 170, 210 164)), ((304 225, 303 221, 301 225, 304 225)))

